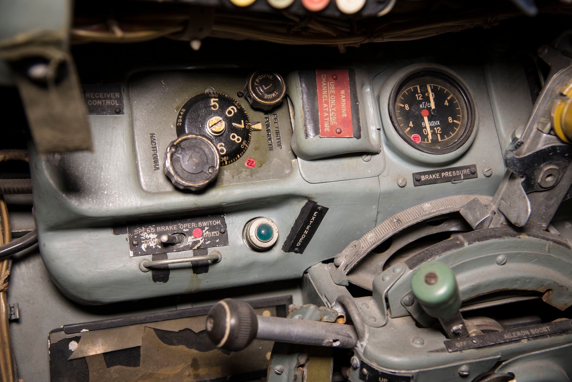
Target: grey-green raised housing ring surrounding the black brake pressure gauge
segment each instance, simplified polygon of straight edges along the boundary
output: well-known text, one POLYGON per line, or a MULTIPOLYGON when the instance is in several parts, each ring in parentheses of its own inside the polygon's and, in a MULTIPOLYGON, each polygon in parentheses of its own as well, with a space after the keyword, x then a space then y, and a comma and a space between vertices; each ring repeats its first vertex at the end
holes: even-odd
MULTIPOLYGON (((412 160, 414 162, 423 163, 423 164, 447 164, 449 162, 455 161, 460 156, 462 156, 471 146, 472 142, 475 140, 475 136, 479 130, 479 113, 476 111, 474 106, 474 95, 472 94, 471 87, 467 85, 464 81, 463 77, 455 71, 449 69, 446 66, 439 65, 437 63, 429 63, 429 62, 420 62, 420 63, 413 63, 407 66, 399 67, 399 63, 394 64, 394 69, 392 70, 391 74, 388 74, 385 79, 380 78, 380 81, 383 81, 379 87, 379 113, 380 118, 382 120, 383 126, 383 133, 384 133, 384 140, 387 142, 387 148, 390 151, 393 151, 403 158, 407 158, 407 160, 412 160), (462 146, 458 149, 453 150, 449 153, 428 153, 422 150, 418 150, 407 143, 406 140, 399 135, 397 130, 395 129, 394 122, 390 116, 390 108, 391 108, 391 98, 390 94, 394 87, 399 86, 403 83, 404 80, 411 77, 411 75, 415 75, 421 71, 431 71, 436 72, 440 71, 441 73, 446 74, 448 77, 452 77, 456 79, 456 82, 463 86, 463 89, 466 89, 467 95, 470 98, 471 106, 472 106, 472 116, 474 117, 474 124, 472 128, 471 135, 467 138, 462 146)), ((391 69, 389 69, 391 70, 391 69)), ((471 82, 472 83, 472 82, 471 82)), ((397 92, 397 90, 396 90, 397 92)), ((467 104, 468 105, 468 104, 467 104)))

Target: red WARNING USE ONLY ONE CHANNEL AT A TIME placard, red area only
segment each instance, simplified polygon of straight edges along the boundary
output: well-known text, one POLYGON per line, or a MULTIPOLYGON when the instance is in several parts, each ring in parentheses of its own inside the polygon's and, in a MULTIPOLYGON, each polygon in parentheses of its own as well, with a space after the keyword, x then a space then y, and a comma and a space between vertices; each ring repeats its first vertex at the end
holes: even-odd
POLYGON ((316 70, 320 137, 352 138, 349 70, 316 70))

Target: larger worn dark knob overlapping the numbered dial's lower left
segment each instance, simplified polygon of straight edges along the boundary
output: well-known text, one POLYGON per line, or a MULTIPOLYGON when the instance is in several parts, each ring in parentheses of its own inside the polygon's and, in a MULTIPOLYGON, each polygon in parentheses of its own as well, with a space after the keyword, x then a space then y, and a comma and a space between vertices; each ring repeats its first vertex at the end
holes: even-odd
POLYGON ((184 134, 170 143, 165 174, 181 189, 200 190, 219 174, 219 152, 202 136, 184 134))

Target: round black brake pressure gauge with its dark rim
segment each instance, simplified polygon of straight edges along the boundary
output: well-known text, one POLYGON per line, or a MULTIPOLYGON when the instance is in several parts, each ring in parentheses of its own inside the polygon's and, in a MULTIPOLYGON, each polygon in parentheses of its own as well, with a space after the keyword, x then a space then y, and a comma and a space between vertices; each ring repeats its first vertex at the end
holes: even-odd
POLYGON ((471 136, 472 100, 449 74, 424 71, 410 75, 394 88, 390 100, 395 130, 415 149, 446 154, 471 136))

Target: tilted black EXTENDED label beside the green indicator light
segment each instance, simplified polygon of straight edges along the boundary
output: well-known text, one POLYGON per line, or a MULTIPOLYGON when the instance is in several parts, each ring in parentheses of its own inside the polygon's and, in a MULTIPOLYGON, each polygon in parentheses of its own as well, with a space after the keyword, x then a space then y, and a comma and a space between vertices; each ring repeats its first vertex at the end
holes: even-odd
POLYGON ((282 245, 282 250, 284 252, 304 253, 304 249, 312 240, 326 212, 328 212, 328 208, 318 205, 313 200, 308 200, 300 210, 300 214, 284 241, 284 245, 282 245))

